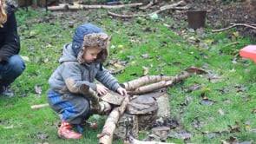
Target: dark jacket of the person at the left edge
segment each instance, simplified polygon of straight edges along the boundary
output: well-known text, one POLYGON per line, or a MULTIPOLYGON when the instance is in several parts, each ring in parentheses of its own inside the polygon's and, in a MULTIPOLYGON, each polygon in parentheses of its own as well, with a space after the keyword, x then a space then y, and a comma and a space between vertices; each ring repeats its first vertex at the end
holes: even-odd
POLYGON ((17 24, 15 8, 7 5, 7 22, 0 28, 0 58, 8 61, 10 56, 14 56, 20 51, 20 39, 17 35, 17 24))

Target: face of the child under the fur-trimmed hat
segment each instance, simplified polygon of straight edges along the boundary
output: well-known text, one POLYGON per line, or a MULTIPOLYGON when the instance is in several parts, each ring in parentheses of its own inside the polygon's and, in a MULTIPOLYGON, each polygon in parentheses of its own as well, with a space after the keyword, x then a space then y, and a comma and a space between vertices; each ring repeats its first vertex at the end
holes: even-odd
POLYGON ((94 62, 98 54, 100 54, 101 52, 102 52, 102 49, 89 47, 83 53, 82 59, 84 60, 84 62, 87 62, 87 63, 94 62))

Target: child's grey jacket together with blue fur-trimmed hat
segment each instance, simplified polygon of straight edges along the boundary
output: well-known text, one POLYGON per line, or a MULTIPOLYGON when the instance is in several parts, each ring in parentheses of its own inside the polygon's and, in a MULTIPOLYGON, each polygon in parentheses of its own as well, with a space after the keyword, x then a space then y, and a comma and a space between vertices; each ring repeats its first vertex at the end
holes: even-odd
POLYGON ((80 93, 82 84, 86 84, 96 90, 96 79, 116 91, 120 84, 108 70, 102 68, 102 62, 108 57, 108 46, 108 35, 95 25, 88 23, 76 28, 73 43, 63 46, 59 60, 61 65, 49 78, 50 89, 59 94, 80 93), (92 46, 102 49, 102 53, 95 62, 85 63, 82 61, 84 49, 92 46))

